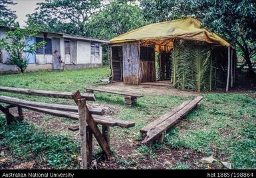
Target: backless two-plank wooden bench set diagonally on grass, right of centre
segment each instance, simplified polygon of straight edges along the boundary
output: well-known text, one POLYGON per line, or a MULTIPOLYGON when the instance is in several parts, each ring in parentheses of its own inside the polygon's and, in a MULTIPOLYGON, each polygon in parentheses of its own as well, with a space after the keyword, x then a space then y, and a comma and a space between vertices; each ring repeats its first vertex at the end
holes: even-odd
POLYGON ((160 118, 154 120, 154 122, 150 122, 150 124, 144 126, 144 128, 140 130, 143 137, 142 143, 149 143, 150 141, 162 143, 166 130, 174 126, 174 124, 186 116, 195 106, 199 106, 199 102, 202 99, 202 96, 197 96, 194 100, 186 101, 172 111, 160 116, 160 118))

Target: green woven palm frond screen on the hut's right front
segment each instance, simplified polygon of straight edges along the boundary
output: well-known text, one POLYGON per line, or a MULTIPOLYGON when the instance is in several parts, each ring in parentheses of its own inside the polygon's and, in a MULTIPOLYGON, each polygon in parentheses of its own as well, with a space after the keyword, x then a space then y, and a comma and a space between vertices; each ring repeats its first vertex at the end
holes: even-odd
POLYGON ((218 68, 209 46, 176 40, 171 60, 172 87, 197 92, 215 88, 218 68))

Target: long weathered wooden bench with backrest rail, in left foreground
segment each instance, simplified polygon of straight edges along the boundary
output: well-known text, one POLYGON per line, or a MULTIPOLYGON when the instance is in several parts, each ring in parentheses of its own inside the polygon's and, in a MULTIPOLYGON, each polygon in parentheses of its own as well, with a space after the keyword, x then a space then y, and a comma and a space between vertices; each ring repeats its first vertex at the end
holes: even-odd
POLYGON ((133 122, 126 122, 103 116, 104 110, 102 108, 95 106, 87 106, 86 100, 95 100, 94 94, 80 94, 79 91, 71 93, 42 90, 27 90, 23 88, 9 88, 1 86, 0 91, 17 94, 27 94, 31 96, 73 99, 76 102, 77 106, 33 102, 21 100, 19 98, 0 96, 0 103, 7 104, 7 106, 2 106, 0 104, 0 111, 3 112, 3 114, 5 114, 7 124, 11 124, 11 122, 16 120, 24 120, 22 108, 26 108, 28 110, 33 110, 45 114, 50 114, 52 116, 59 116, 64 118, 70 118, 72 120, 78 120, 79 126, 72 126, 68 129, 80 130, 80 135, 82 139, 82 168, 84 169, 87 169, 88 165, 90 165, 92 161, 92 135, 94 135, 94 137, 98 141, 106 157, 110 157, 110 127, 118 126, 120 128, 130 128, 135 125, 133 122), (15 107, 18 110, 19 116, 14 116, 13 114, 11 114, 10 108, 15 107), (98 129, 98 124, 102 126, 102 132, 100 132, 100 130, 98 129))

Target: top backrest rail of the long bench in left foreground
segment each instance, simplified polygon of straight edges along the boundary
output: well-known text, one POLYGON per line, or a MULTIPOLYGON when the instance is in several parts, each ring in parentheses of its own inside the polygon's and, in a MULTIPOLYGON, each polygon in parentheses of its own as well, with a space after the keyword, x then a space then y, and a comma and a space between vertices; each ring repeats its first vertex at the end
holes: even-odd
MULTIPOLYGON (((11 92, 16 94, 27 94, 30 96, 45 96, 51 98, 66 98, 72 99, 72 92, 57 92, 57 91, 45 91, 45 90, 29 90, 23 88, 11 88, 0 86, 1 92, 11 92)), ((95 101, 94 94, 81 94, 82 98, 86 98, 88 101, 95 101)))

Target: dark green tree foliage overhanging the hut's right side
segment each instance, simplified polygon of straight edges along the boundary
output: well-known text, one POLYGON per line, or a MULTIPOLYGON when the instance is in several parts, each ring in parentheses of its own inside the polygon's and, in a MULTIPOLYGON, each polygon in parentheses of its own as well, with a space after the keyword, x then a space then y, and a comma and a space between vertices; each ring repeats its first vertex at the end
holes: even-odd
POLYGON ((256 56, 256 1, 184 0, 184 13, 200 19, 203 26, 220 34, 243 52, 253 74, 251 58, 256 56))

